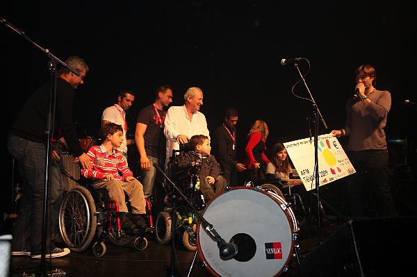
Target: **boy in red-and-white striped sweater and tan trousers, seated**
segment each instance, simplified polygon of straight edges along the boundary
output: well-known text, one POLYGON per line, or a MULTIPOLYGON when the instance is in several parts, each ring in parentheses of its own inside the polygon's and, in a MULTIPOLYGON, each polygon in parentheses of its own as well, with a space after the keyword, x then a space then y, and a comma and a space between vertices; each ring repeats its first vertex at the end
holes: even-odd
POLYGON ((100 128, 99 135, 103 144, 90 147, 87 153, 92 160, 92 169, 82 169, 81 174, 85 178, 94 180, 93 187, 105 187, 108 196, 117 201, 122 230, 127 232, 132 232, 137 228, 145 230, 147 228, 144 219, 146 202, 142 184, 133 177, 122 153, 117 150, 123 142, 123 128, 113 122, 108 122, 100 128), (128 217, 129 211, 124 192, 129 196, 131 203, 133 214, 131 219, 128 217))

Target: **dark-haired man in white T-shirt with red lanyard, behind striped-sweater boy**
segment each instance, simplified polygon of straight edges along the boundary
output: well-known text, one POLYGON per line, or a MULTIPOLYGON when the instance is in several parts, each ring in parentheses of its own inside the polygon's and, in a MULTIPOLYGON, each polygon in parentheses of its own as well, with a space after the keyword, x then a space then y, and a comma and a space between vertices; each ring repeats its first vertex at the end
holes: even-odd
POLYGON ((127 146, 133 144, 134 140, 126 140, 127 121, 126 111, 131 108, 133 101, 135 101, 135 94, 131 91, 122 91, 117 96, 117 104, 106 108, 101 115, 101 126, 107 122, 122 125, 123 128, 123 142, 117 149, 122 152, 122 155, 127 161, 127 146))

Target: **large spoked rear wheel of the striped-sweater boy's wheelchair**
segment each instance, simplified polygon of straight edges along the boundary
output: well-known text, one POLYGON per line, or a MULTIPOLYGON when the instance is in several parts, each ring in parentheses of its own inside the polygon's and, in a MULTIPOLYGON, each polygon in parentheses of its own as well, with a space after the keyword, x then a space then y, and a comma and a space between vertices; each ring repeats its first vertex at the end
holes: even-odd
POLYGON ((85 187, 73 187, 65 194, 59 211, 59 229, 72 251, 84 251, 92 242, 97 228, 95 213, 94 199, 85 187))

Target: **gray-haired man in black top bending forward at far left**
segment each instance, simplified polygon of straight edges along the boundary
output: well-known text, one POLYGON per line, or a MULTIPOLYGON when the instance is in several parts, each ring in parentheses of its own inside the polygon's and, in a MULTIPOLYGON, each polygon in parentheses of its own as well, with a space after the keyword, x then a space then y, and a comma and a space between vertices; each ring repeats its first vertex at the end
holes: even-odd
MULTIPOLYGON (((65 63, 80 73, 79 76, 67 68, 60 69, 56 78, 56 108, 54 119, 55 134, 51 139, 63 137, 74 157, 78 158, 83 168, 91 168, 90 158, 81 149, 76 129, 72 121, 72 104, 74 89, 82 85, 83 78, 88 72, 88 65, 82 58, 72 56, 65 63), (59 131, 59 132, 58 132, 59 131), (60 133, 60 135, 57 135, 60 133)), ((8 151, 17 160, 19 174, 23 181, 22 199, 19 202, 18 217, 13 234, 13 255, 31 255, 32 258, 41 258, 42 247, 42 212, 44 203, 44 181, 47 137, 45 129, 49 115, 50 83, 44 84, 32 94, 17 119, 12 124, 8 136, 8 151)), ((54 113, 52 113, 54 115, 54 113)), ((56 151, 51 158, 58 160, 56 151)), ((49 181, 51 181, 49 179, 49 181)), ((60 196, 59 186, 62 184, 49 182, 49 210, 52 210, 56 199, 60 196)), ((49 217, 51 218, 51 217, 49 217)), ((52 216, 54 218, 54 215, 52 216)), ((55 230, 54 220, 49 220, 48 227, 52 230, 47 233, 47 258, 56 258, 70 253, 70 249, 59 249, 51 242, 55 230), (51 248, 49 248, 51 246, 51 248)))

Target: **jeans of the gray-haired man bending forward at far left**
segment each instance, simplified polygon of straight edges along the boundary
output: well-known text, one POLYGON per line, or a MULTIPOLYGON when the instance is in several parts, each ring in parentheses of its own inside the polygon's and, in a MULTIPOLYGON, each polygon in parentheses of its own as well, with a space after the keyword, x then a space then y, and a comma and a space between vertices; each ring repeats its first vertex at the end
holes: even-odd
MULTIPOLYGON (((31 249, 32 255, 38 255, 42 248, 42 219, 44 205, 44 180, 46 146, 38 142, 31 142, 22 137, 9 135, 8 151, 17 160, 19 174, 22 178, 22 198, 19 200, 18 217, 13 233, 13 250, 31 249)), ((57 174, 58 164, 51 162, 50 173, 57 174)), ((51 176, 50 175, 50 176, 51 176)), ((51 236, 54 236, 54 203, 62 194, 59 185, 49 180, 48 218, 47 218, 47 251, 49 246, 54 249, 51 236), (51 185, 53 184, 53 185, 51 185), (58 187, 57 187, 58 185, 58 187)), ((55 210, 56 211, 56 210, 55 210)))

